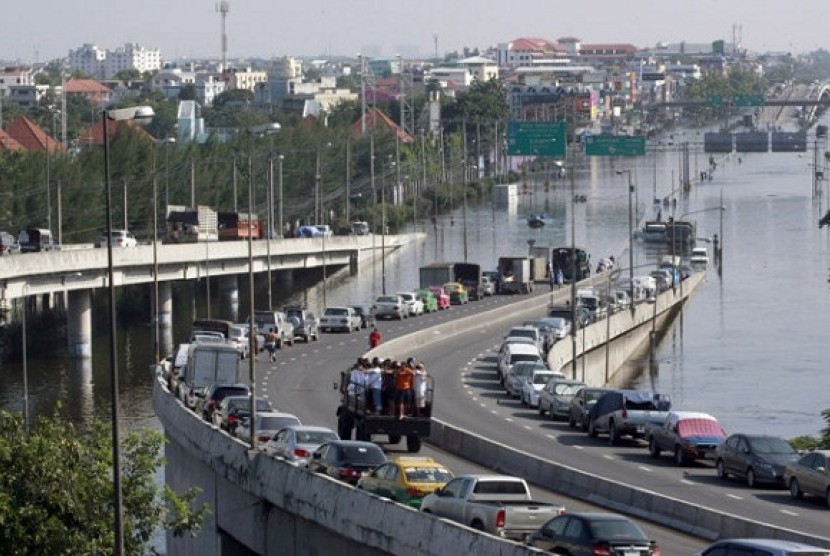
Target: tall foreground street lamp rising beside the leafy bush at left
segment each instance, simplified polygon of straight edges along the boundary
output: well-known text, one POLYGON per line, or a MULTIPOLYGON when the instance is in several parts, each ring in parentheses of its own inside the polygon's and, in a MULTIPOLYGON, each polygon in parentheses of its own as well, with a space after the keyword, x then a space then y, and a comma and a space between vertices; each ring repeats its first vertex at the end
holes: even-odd
POLYGON ((133 120, 146 124, 153 118, 153 109, 149 106, 133 106, 131 108, 115 108, 102 110, 103 138, 104 138, 104 183, 106 189, 107 215, 107 281, 109 291, 109 325, 110 325, 110 383, 112 389, 112 481, 113 505, 115 511, 115 554, 124 553, 124 524, 122 522, 123 502, 121 497, 121 440, 118 422, 118 357, 115 330, 115 269, 112 264, 112 184, 110 183, 110 121, 133 120))

